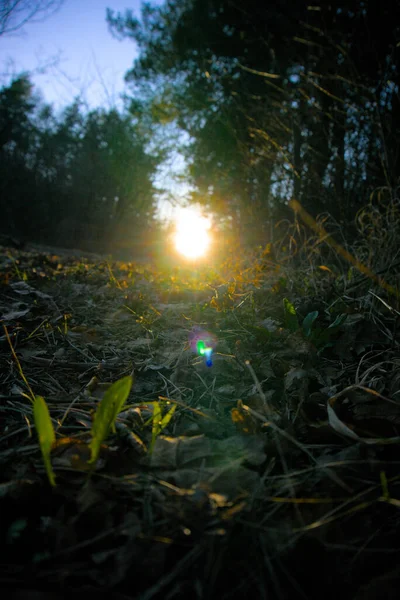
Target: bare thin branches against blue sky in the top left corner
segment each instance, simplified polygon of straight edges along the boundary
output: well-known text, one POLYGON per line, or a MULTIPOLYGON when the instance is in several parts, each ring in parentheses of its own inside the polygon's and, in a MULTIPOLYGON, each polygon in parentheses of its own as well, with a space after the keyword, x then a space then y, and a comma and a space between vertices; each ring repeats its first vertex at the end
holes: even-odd
POLYGON ((62 3, 63 0, 0 0, 0 36, 51 16, 62 3))

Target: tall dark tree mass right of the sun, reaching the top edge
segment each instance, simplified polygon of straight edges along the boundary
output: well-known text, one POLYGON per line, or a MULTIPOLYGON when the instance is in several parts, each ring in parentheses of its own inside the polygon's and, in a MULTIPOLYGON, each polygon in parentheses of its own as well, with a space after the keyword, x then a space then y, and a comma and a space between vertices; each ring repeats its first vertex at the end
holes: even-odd
POLYGON ((245 238, 296 198, 342 227, 400 173, 400 5, 227 0, 108 11, 140 54, 126 79, 190 136, 194 197, 245 238))

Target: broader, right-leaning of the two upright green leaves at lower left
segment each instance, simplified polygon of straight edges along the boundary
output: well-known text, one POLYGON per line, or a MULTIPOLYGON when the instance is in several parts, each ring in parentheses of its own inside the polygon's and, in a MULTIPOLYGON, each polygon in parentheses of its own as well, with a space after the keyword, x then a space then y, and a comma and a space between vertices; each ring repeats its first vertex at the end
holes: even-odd
POLYGON ((97 407, 92 425, 92 440, 89 444, 91 451, 89 463, 93 464, 97 461, 101 444, 109 435, 110 430, 115 431, 115 421, 129 396, 132 383, 131 375, 113 383, 97 407))

